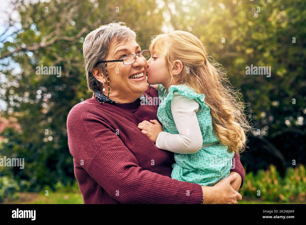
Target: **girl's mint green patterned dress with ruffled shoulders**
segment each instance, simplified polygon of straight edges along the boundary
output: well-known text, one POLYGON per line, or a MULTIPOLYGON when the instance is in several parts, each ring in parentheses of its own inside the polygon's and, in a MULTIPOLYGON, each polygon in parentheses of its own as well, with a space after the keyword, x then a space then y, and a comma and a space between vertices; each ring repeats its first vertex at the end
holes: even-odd
POLYGON ((159 84, 158 93, 161 103, 157 111, 157 117, 162 123, 164 131, 178 134, 170 109, 170 101, 173 97, 173 92, 176 90, 180 95, 195 99, 200 104, 201 108, 197 113, 197 118, 203 143, 217 142, 217 144, 201 148, 193 154, 174 153, 176 163, 172 165, 171 178, 202 186, 213 186, 230 174, 235 153, 228 152, 228 146, 218 142, 218 136, 213 132, 210 108, 204 102, 204 94, 199 95, 185 84, 170 86, 169 93, 159 84))

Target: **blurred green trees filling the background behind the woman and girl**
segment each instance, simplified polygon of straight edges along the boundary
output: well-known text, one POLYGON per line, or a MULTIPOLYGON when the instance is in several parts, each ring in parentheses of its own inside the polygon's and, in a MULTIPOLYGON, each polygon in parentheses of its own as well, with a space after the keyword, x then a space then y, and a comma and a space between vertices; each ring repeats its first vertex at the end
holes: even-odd
MULTIPOLYGON (((86 87, 82 40, 114 20, 136 31, 142 49, 162 28, 191 32, 205 43, 209 56, 226 68, 249 105, 255 132, 242 153, 247 172, 256 174, 274 164, 284 177, 293 160, 297 166, 306 163, 305 1, 54 0, 16 6, 21 29, 0 43, 0 96, 8 105, 1 116, 21 129, 7 127, 1 133, 0 155, 24 158, 25 167, 0 167, 0 172, 13 176, 23 190, 73 186, 66 119, 75 104, 92 96, 86 87), (36 66, 42 64, 61 66, 61 77, 37 75, 36 66), (271 77, 246 75, 251 64, 271 66, 271 77)), ((245 181, 263 175, 248 175, 245 181)), ((253 195, 247 187, 245 194, 253 195)), ((275 193, 273 199, 280 198, 275 193)), ((285 201, 287 195, 280 193, 285 201)))

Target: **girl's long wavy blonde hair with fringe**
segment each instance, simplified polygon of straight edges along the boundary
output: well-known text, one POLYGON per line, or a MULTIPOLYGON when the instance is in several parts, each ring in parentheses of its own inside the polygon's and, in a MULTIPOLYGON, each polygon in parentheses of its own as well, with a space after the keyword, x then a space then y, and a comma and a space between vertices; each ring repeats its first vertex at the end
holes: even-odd
POLYGON ((208 61, 203 43, 189 32, 173 31, 155 36, 150 51, 165 56, 171 84, 187 84, 198 94, 204 93, 220 143, 227 145, 229 152, 244 151, 246 133, 251 127, 244 114, 241 94, 230 87, 221 65, 208 61), (183 69, 180 74, 172 75, 175 60, 181 60, 183 69))

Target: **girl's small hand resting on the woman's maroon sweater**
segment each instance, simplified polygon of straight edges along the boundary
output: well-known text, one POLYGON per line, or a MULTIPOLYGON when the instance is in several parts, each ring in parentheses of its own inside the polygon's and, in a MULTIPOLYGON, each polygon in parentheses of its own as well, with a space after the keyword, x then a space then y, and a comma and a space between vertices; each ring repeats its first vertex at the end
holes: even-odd
POLYGON ((138 128, 141 129, 141 132, 144 133, 151 141, 156 143, 157 136, 160 132, 164 131, 162 125, 155 119, 150 120, 150 122, 144 120, 138 124, 138 128))

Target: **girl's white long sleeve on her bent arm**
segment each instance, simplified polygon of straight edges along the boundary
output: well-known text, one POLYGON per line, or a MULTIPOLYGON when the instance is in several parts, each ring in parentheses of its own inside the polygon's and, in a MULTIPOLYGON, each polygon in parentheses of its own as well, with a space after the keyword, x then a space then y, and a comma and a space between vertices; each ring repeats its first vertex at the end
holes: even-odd
POLYGON ((200 111, 200 107, 195 99, 181 96, 174 91, 170 108, 179 134, 160 132, 156 139, 156 147, 180 154, 199 151, 203 138, 196 113, 200 111))

